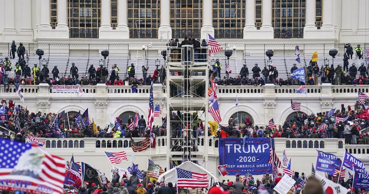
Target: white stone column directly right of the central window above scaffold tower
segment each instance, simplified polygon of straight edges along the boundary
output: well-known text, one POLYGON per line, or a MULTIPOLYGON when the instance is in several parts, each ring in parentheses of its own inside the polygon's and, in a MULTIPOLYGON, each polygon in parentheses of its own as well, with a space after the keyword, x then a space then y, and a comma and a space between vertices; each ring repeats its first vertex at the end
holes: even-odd
POLYGON ((207 34, 214 37, 212 0, 203 0, 203 25, 201 27, 201 39, 208 39, 207 34))

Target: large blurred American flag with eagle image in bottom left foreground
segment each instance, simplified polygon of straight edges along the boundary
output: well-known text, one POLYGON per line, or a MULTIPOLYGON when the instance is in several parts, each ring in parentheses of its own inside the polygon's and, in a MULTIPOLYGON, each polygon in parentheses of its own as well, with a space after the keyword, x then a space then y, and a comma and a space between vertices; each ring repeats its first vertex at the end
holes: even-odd
MULTIPOLYGON (((63 194, 66 161, 34 144, 2 139, 0 180, 30 183, 27 193, 63 194)), ((10 183, 10 182, 9 182, 10 183)), ((24 190, 24 184, 7 184, 2 190, 24 190)), ((19 182, 20 183, 20 182, 19 182)))

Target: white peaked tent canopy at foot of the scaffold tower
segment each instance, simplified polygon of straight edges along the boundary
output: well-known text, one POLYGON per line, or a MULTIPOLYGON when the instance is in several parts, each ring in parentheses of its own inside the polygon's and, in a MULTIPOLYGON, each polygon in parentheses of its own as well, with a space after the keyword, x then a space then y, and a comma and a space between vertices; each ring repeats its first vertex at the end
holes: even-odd
MULTIPOLYGON (((177 166, 179 169, 191 171, 194 173, 207 173, 209 177, 209 186, 212 186, 212 183, 218 183, 218 178, 211 174, 209 171, 205 170, 198 164, 193 163, 192 161, 186 161, 177 166), (210 182, 212 181, 212 182, 210 182)), ((173 183, 175 185, 177 180, 176 170, 175 168, 166 171, 165 173, 161 174, 158 178, 158 181, 164 181, 165 183, 173 183)))

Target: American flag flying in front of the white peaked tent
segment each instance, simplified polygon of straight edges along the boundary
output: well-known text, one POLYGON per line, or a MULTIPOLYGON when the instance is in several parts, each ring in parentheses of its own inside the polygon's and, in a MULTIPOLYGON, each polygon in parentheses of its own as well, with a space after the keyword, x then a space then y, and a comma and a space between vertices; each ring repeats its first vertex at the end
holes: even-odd
POLYGON ((206 188, 209 185, 207 174, 194 173, 178 168, 176 168, 176 171, 178 188, 206 188))

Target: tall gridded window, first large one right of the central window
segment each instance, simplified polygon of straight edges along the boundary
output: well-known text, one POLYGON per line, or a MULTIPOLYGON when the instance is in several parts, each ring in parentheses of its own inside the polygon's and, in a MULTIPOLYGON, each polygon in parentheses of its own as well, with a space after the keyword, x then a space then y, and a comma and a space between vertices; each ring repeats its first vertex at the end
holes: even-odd
POLYGON ((213 0, 215 38, 242 38, 244 22, 245 1, 213 0))

